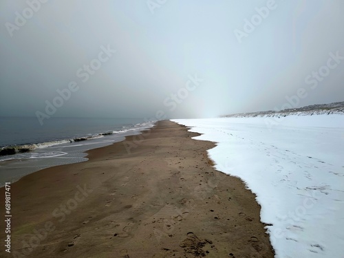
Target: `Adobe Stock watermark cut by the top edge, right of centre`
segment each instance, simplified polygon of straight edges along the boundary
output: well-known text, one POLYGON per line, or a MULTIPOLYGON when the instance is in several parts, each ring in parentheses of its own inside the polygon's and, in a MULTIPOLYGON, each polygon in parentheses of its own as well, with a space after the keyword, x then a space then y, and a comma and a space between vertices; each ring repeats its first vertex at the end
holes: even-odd
MULTIPOLYGON (((282 0, 283 1, 283 0, 282 0)), ((266 6, 261 8, 255 8, 255 14, 250 19, 244 19, 244 26, 242 30, 235 29, 234 34, 239 43, 242 43, 243 38, 247 38, 248 35, 255 31, 255 29, 261 25, 261 23, 268 18, 270 12, 277 8, 275 0, 268 0, 266 6)))

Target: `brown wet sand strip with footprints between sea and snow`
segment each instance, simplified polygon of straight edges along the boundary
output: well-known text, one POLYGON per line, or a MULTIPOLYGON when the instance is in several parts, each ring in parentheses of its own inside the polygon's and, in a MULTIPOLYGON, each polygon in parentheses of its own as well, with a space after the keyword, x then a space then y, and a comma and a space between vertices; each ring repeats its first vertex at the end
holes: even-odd
POLYGON ((0 257, 273 257, 255 195, 213 169, 215 145, 197 135, 160 121, 87 162, 21 178, 0 257))

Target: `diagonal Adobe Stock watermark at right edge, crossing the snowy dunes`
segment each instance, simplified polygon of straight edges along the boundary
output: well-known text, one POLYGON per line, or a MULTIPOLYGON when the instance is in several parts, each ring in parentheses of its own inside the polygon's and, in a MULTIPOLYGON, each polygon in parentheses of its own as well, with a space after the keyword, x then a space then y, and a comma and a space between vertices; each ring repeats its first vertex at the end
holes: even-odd
MULTIPOLYGON (((308 76, 305 76, 305 84, 310 85, 308 88, 300 87, 297 89, 296 94, 292 96, 286 96, 287 102, 284 103, 281 108, 275 107, 274 110, 279 112, 284 109, 293 109, 299 107, 301 100, 307 98, 309 96, 310 90, 314 90, 319 86, 327 76, 330 76, 331 70, 336 69, 344 60, 344 56, 341 56, 339 51, 336 51, 334 54, 330 52, 329 58, 327 58, 327 62, 325 65, 322 65, 316 71, 312 71, 308 76)), ((284 116, 271 116, 264 119, 266 127, 271 131, 272 127, 279 125, 280 122, 284 119, 284 116)))

